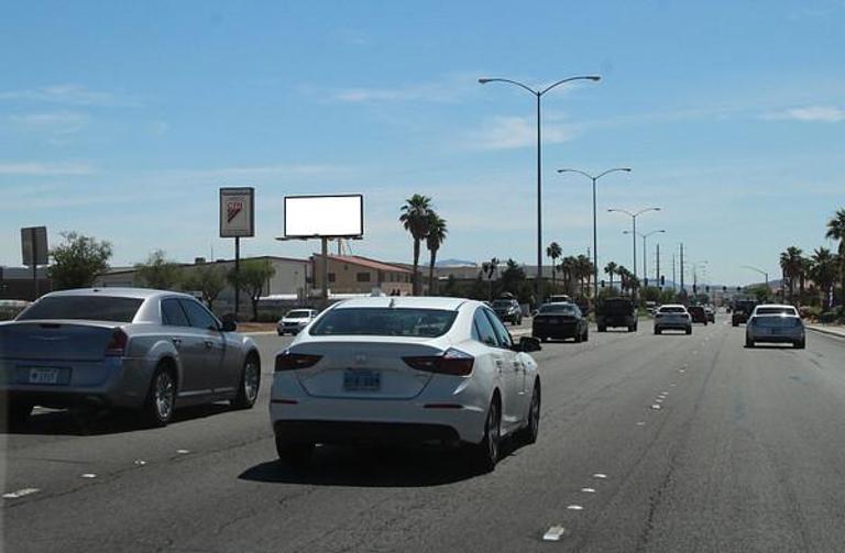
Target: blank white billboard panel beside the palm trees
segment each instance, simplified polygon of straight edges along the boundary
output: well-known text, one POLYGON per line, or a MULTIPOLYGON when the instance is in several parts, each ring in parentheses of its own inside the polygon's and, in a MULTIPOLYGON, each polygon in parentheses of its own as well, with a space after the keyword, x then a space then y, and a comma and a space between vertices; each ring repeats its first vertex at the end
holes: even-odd
POLYGON ((364 197, 286 196, 286 237, 360 237, 364 234, 364 197))

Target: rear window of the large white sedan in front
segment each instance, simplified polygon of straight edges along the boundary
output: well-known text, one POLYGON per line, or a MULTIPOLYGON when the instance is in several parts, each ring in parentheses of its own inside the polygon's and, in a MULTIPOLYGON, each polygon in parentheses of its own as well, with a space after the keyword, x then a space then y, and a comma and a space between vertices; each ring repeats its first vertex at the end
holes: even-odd
POLYGON ((449 332, 458 311, 415 308, 340 308, 317 320, 315 336, 436 338, 449 332))

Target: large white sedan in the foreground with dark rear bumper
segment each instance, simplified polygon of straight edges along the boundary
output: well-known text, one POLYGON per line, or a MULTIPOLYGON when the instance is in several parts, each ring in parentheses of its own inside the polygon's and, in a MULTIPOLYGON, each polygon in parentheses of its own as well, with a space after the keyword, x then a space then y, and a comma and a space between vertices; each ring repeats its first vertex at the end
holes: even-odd
POLYGON ((492 471, 501 440, 537 439, 540 377, 493 310, 459 298, 337 303, 276 355, 270 418, 279 457, 317 443, 464 444, 492 471))

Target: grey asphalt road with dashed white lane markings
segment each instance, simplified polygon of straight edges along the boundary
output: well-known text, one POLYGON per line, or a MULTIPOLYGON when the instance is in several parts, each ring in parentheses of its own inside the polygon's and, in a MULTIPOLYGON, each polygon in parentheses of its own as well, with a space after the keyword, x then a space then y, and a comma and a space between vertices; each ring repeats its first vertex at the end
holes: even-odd
POLYGON ((845 341, 743 347, 744 328, 591 332, 536 354, 540 438, 489 475, 437 450, 320 447, 275 461, 270 353, 255 409, 165 429, 41 412, 7 434, 9 552, 845 549, 845 341), (662 398, 662 399, 661 399, 662 398), (659 407, 659 409, 652 408, 659 407), (88 475, 84 477, 83 475, 88 475), (91 477, 90 475, 96 475, 91 477), (550 527, 560 541, 542 540, 550 527))

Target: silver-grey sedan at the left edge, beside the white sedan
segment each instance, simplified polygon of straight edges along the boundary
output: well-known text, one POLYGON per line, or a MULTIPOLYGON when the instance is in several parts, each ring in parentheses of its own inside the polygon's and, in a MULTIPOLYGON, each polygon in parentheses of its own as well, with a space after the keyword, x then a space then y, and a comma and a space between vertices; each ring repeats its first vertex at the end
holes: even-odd
POLYGON ((10 422, 33 406, 83 403, 140 411, 165 425, 176 407, 229 400, 251 408, 254 342, 185 294, 92 288, 47 294, 0 323, 0 394, 10 422))

